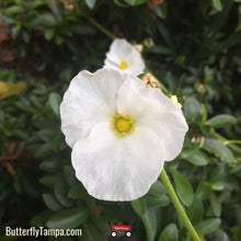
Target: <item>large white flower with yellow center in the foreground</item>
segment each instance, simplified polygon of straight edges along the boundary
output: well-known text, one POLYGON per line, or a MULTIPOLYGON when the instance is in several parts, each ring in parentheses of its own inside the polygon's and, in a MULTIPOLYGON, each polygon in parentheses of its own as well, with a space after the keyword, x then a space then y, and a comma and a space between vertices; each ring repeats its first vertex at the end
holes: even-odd
POLYGON ((81 71, 60 105, 77 177, 105 200, 144 196, 181 151, 187 124, 162 92, 133 74, 81 71))

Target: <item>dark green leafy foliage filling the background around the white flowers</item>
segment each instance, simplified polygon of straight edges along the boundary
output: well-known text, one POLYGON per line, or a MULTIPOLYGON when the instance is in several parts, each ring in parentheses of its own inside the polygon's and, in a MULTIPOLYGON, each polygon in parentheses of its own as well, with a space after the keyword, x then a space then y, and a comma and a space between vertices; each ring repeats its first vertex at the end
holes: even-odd
POLYGON ((89 196, 74 177, 58 107, 74 74, 102 67, 112 42, 102 26, 141 43, 148 68, 183 104, 190 131, 165 169, 193 225, 206 240, 241 240, 240 0, 0 7, 0 81, 25 83, 18 95, 0 89, 0 240, 5 226, 82 228, 82 238, 59 240, 112 240, 118 221, 133 233, 117 240, 191 240, 160 181, 140 199, 112 203, 89 196))

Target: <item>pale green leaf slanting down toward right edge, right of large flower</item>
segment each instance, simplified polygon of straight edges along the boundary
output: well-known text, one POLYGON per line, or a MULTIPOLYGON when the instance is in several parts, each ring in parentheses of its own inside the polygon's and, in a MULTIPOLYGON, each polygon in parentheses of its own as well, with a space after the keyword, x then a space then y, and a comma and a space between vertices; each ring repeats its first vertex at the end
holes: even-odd
POLYGON ((203 148, 215 154, 221 161, 227 163, 236 163, 234 157, 230 149, 216 139, 205 138, 203 148))

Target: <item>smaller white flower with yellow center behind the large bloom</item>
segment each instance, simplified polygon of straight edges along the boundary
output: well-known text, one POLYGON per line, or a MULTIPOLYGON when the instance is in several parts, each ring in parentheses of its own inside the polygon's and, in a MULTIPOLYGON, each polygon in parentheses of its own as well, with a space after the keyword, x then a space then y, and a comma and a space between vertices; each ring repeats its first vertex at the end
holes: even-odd
POLYGON ((139 76, 144 72, 145 64, 140 53, 131 44, 117 38, 112 43, 111 49, 106 54, 104 68, 139 76))

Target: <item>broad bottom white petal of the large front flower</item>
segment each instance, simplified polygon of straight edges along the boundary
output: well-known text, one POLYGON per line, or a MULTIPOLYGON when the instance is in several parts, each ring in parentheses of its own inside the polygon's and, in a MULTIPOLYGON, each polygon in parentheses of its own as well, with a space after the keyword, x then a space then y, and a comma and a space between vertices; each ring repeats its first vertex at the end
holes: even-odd
POLYGON ((90 195, 104 200, 133 200, 144 196, 163 167, 154 134, 138 128, 116 137, 106 124, 96 125, 72 150, 77 177, 90 195))

